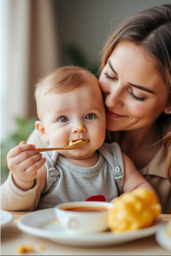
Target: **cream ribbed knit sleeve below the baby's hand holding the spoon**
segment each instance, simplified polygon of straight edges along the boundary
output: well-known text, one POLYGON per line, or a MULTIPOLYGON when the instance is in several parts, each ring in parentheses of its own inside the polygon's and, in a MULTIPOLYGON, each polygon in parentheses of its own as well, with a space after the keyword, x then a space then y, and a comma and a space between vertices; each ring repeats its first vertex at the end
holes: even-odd
POLYGON ((34 187, 23 191, 16 187, 9 173, 6 181, 1 185, 1 209, 11 211, 31 212, 35 208, 36 190, 38 188, 38 178, 35 179, 34 187))

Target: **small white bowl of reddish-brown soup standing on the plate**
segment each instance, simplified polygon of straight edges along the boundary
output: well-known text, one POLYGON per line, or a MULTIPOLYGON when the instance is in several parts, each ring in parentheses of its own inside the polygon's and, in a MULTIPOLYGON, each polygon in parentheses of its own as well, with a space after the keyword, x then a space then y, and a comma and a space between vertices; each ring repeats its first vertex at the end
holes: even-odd
POLYGON ((113 208, 112 203, 80 201, 58 204, 54 207, 54 210, 58 221, 60 221, 60 225, 66 229, 67 232, 78 234, 102 232, 107 230, 107 214, 108 210, 111 208, 113 208), (78 209, 83 207, 93 207, 96 209, 104 208, 104 210, 92 212, 69 210, 71 208, 78 209))

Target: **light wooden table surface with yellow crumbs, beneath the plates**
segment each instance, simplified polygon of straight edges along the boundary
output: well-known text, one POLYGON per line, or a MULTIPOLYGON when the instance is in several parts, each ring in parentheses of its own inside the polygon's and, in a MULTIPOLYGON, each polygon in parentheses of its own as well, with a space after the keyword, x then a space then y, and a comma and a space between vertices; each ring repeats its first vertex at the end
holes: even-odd
MULTIPOLYGON (((28 212, 10 212, 14 220, 1 229, 1 255, 171 255, 171 253, 150 236, 124 245, 102 248, 78 248, 57 244, 48 239, 31 236, 17 228, 17 220, 28 212), (35 251, 30 253, 17 253, 19 245, 32 244, 35 251), (39 245, 44 245, 40 250, 39 245)), ((163 221, 171 220, 170 214, 160 214, 163 221)))

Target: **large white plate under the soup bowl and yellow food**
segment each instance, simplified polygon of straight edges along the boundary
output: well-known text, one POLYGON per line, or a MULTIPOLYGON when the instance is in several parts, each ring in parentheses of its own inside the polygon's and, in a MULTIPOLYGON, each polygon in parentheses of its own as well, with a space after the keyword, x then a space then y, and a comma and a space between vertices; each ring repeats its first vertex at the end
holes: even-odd
POLYGON ((121 235, 115 235, 112 232, 73 235, 67 233, 60 225, 54 223, 53 220, 56 220, 56 215, 54 209, 49 208, 24 215, 17 221, 17 226, 28 234, 44 237, 64 245, 101 247, 118 245, 120 243, 152 236, 163 223, 163 221, 158 218, 154 225, 149 228, 143 228, 135 232, 127 232, 121 235))

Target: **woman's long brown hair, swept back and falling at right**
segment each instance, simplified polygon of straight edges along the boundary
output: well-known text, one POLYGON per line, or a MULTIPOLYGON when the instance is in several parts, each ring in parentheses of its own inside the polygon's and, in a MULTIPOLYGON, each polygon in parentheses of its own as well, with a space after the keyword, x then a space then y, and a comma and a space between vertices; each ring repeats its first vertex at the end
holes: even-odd
MULTIPOLYGON (((171 104, 171 4, 146 9, 123 22, 102 50, 101 70, 121 40, 140 46, 154 58, 156 71, 168 88, 167 103, 171 104)), ((171 133, 166 133, 171 128, 171 118, 163 112, 156 121, 161 137, 166 136, 164 141, 169 160, 166 175, 171 182, 171 133)))

